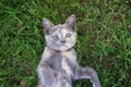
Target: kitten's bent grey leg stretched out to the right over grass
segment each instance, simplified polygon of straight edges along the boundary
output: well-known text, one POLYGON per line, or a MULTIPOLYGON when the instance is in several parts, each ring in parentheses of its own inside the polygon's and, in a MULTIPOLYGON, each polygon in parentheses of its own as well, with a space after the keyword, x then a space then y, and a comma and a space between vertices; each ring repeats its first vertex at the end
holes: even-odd
POLYGON ((93 87, 100 87, 100 82, 97 73, 92 67, 78 67, 75 70, 74 79, 90 78, 93 83, 93 87))

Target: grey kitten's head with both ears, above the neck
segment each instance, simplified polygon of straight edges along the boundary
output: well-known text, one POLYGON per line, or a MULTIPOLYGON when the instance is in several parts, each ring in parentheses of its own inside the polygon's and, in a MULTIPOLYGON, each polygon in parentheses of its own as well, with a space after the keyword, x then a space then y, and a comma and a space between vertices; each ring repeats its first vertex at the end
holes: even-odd
POLYGON ((64 24, 53 25, 44 18, 43 25, 47 46, 53 50, 66 51, 75 45, 75 15, 72 14, 64 24))

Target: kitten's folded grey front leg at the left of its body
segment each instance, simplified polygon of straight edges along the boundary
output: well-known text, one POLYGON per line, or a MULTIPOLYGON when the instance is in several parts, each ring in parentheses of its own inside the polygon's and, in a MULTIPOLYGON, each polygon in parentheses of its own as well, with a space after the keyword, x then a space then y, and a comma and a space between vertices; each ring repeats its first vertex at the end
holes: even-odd
POLYGON ((55 84, 55 72, 46 62, 38 65, 37 72, 39 77, 38 87, 51 87, 55 84))

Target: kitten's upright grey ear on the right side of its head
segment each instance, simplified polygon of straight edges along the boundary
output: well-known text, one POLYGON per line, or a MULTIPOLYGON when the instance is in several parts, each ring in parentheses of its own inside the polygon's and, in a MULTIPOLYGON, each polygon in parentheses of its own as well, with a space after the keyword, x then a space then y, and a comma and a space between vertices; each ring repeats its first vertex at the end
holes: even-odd
POLYGON ((74 29, 74 28, 75 28, 75 22, 76 22, 76 17, 75 17, 74 14, 72 14, 72 15, 70 15, 70 16, 68 17, 68 20, 66 21, 66 24, 67 24, 69 27, 71 27, 72 29, 74 29))

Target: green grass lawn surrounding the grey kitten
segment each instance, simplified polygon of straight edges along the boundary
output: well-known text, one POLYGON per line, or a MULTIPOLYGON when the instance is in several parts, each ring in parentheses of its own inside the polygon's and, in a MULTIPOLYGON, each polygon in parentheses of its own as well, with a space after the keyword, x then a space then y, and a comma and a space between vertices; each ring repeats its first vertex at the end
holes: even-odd
POLYGON ((41 20, 64 23, 72 13, 79 63, 94 67, 103 87, 131 86, 131 0, 0 0, 0 87, 36 87, 41 20))

